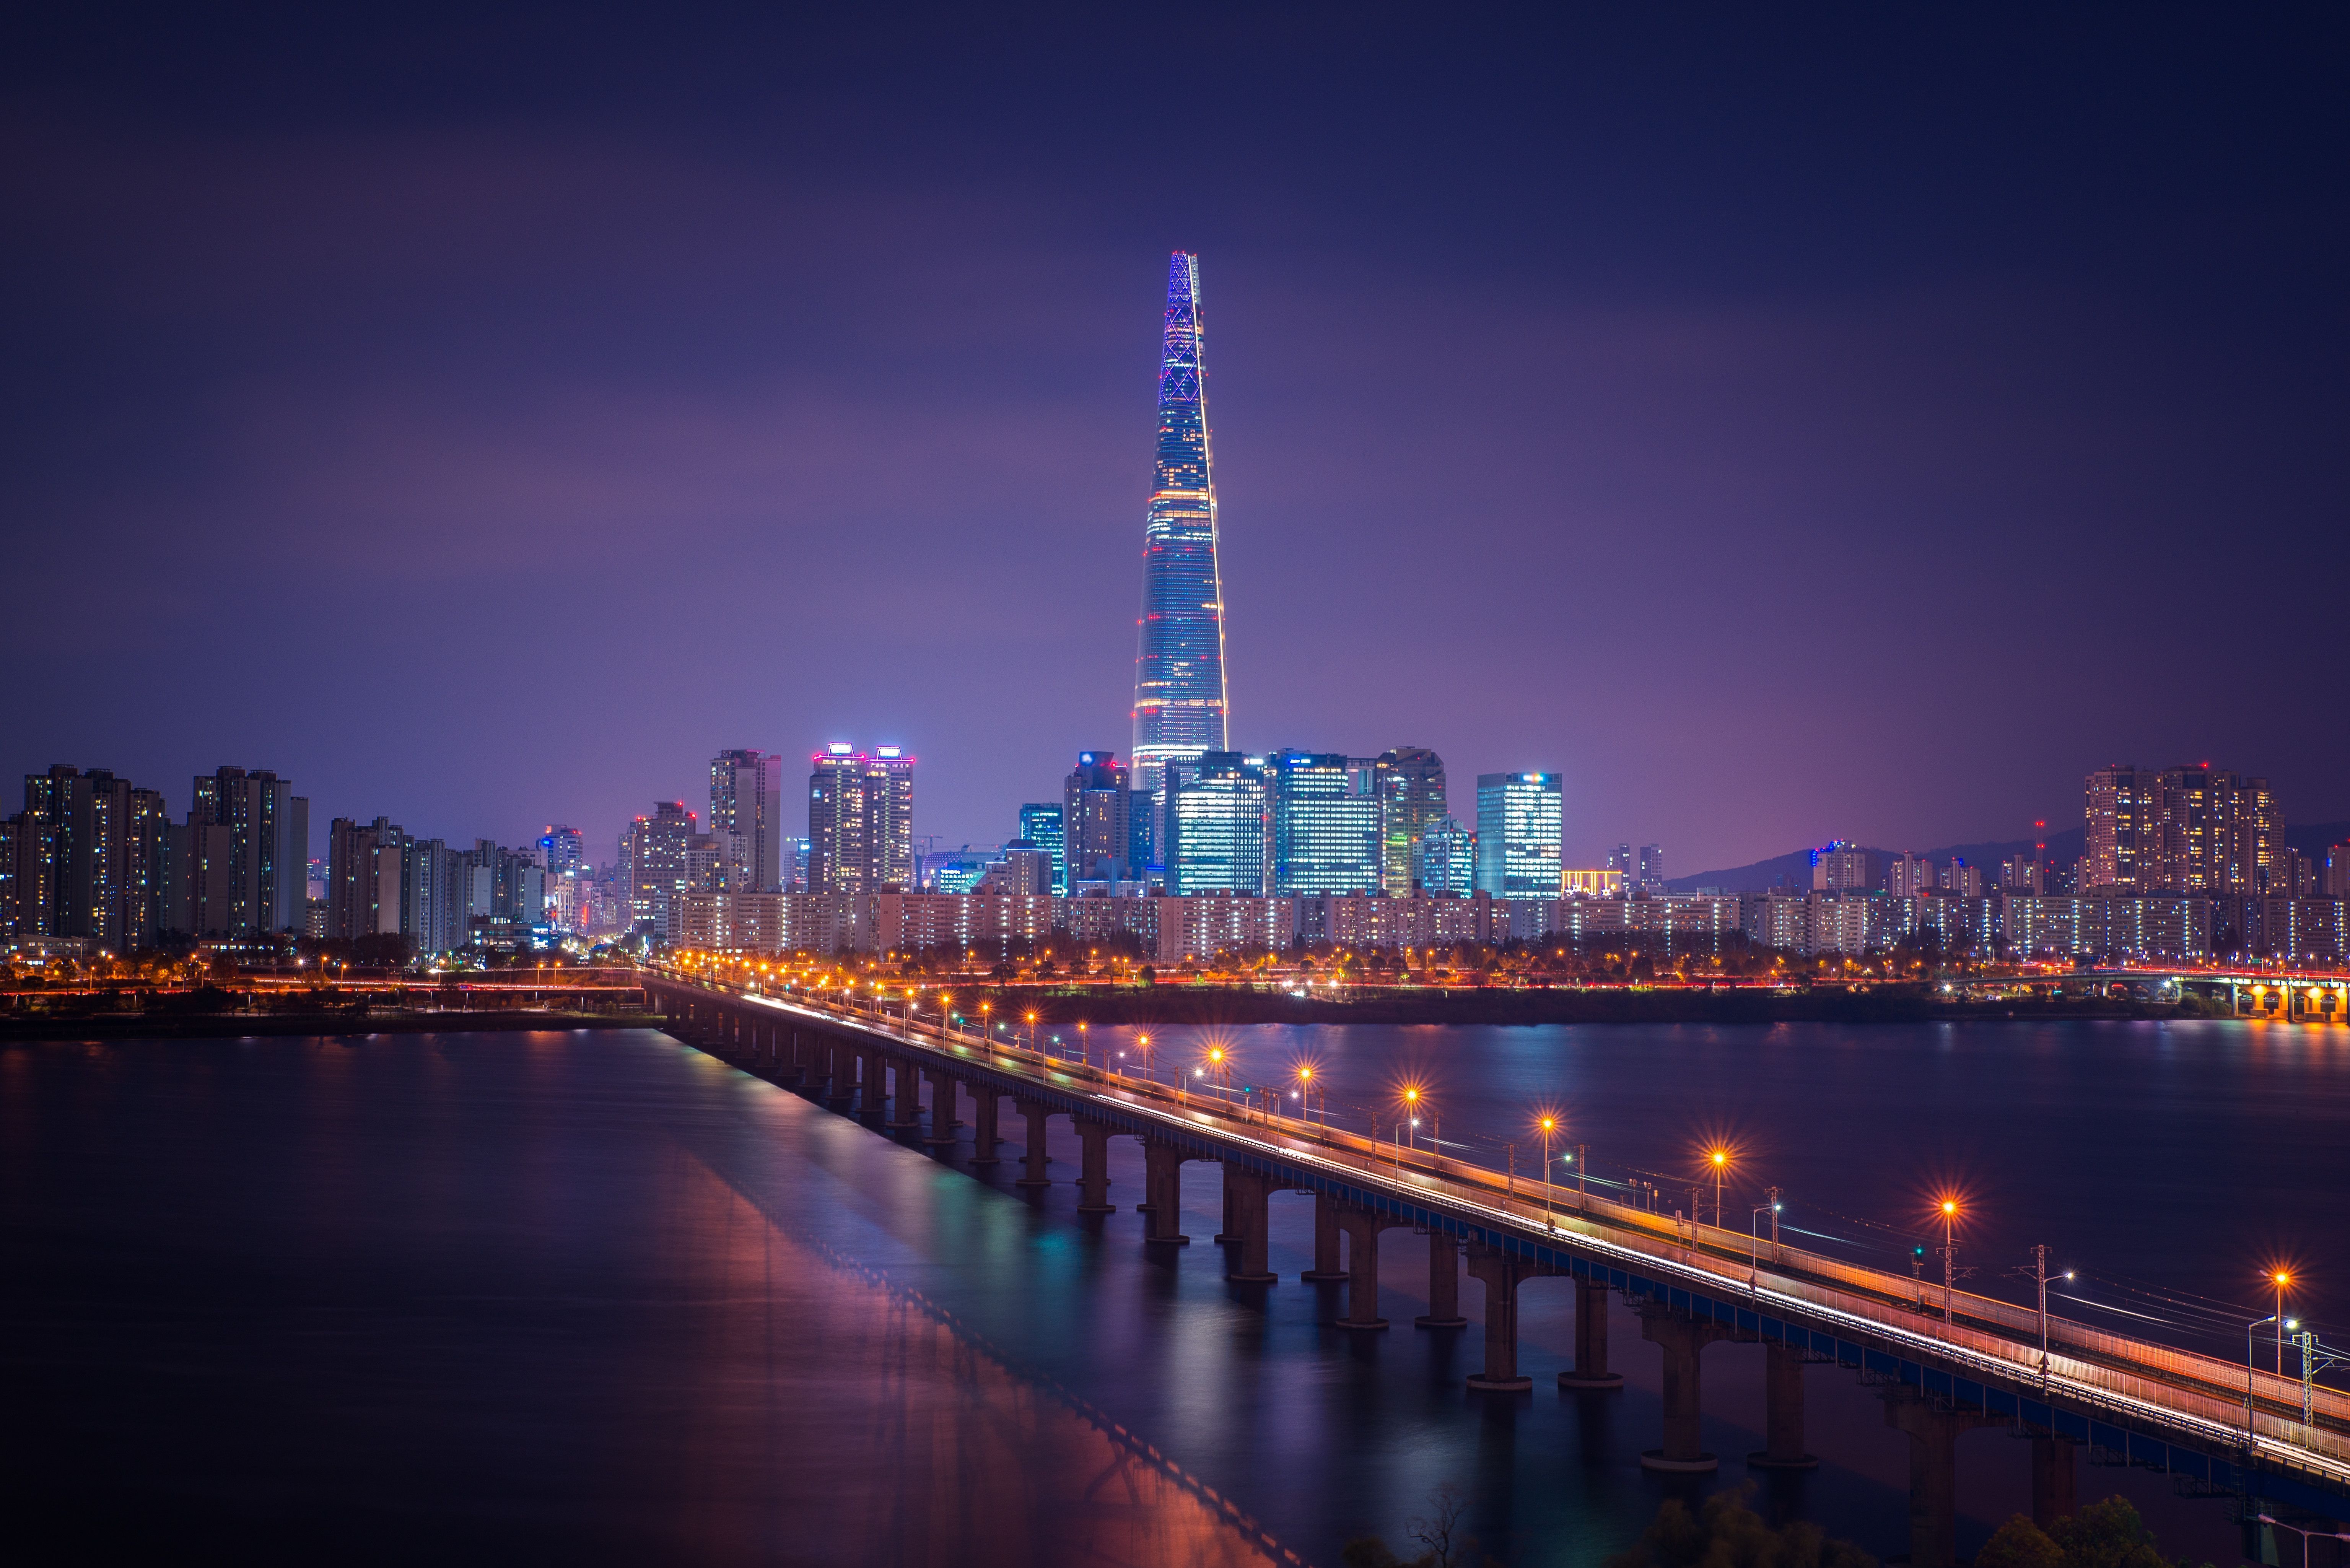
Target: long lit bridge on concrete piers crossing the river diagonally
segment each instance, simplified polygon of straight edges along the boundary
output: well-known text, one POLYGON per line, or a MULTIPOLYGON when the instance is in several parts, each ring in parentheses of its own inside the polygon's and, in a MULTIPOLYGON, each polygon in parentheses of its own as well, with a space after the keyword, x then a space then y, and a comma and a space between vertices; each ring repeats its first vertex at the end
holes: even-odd
MULTIPOLYGON (((1664 1429, 1640 1462, 1708 1472, 1699 1443, 1701 1352, 1718 1342, 1765 1354, 1767 1446, 1751 1467, 1812 1467, 1805 1450, 1807 1366, 1838 1366, 1880 1389, 1885 1425, 1911 1446, 1911 1563, 1955 1568, 1955 1443, 2005 1427, 2033 1443, 2033 1514, 2073 1512, 2077 1462, 2169 1474, 2190 1495, 2230 1497, 2244 1519, 2350 1516, 2350 1394, 2106 1333, 1986 1295, 1920 1286, 1777 1241, 1520 1178, 1431 1152, 1394 1150, 1314 1121, 1182 1086, 1020 1048, 806 992, 761 994, 691 971, 649 969, 663 1027, 714 1056, 804 1088, 830 1107, 959 1143, 971 1103, 975 1154, 992 1166, 1003 1100, 1022 1119, 1022 1187, 1046 1187, 1046 1126, 1069 1117, 1081 1159, 1079 1213, 1114 1213, 1109 1140, 1144 1154, 1147 1246, 1184 1246, 1182 1166, 1217 1161, 1234 1281, 1271 1284, 1267 1220, 1276 1194, 1314 1201, 1311 1281, 1344 1281, 1340 1328, 1384 1331, 1379 1237, 1426 1237, 1426 1328, 1462 1328, 1459 1276, 1483 1284, 1485 1366, 1469 1387, 1532 1387, 1518 1373, 1518 1286, 1556 1276, 1574 1291, 1574 1366, 1560 1387, 1622 1387, 1610 1371, 1607 1293, 1626 1298, 1640 1338, 1664 1359, 1664 1429), (924 1103, 928 1091, 928 1105, 924 1103), (928 1110, 928 1119, 924 1112, 928 1110)), ((2341 1526, 2334 1526, 2341 1528, 2341 1526)))

